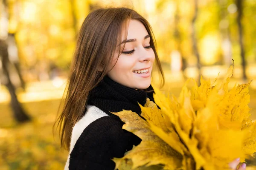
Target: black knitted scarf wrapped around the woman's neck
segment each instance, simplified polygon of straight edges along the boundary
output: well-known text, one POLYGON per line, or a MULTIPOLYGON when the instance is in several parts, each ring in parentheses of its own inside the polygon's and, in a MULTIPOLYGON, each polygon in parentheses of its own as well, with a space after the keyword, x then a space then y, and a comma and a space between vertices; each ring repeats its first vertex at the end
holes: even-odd
POLYGON ((90 91, 88 104, 101 109, 109 116, 114 116, 110 112, 119 112, 122 110, 133 111, 140 115, 141 109, 138 104, 145 105, 146 98, 154 102, 154 89, 150 85, 145 90, 135 90, 114 82, 108 76, 90 91), (147 92, 151 91, 151 92, 147 92))

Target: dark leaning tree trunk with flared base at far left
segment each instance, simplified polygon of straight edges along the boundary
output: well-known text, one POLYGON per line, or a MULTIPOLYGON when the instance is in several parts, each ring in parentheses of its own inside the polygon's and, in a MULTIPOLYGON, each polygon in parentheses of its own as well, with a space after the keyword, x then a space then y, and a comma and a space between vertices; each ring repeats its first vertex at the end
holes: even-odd
POLYGON ((6 79, 5 85, 8 88, 8 91, 11 95, 11 107, 13 110, 13 116, 17 122, 26 122, 30 120, 29 116, 26 115, 25 111, 21 107, 17 96, 15 94, 15 87, 11 82, 8 64, 8 50, 7 44, 4 40, 0 40, 0 57, 2 59, 2 68, 3 68, 3 75, 6 79))

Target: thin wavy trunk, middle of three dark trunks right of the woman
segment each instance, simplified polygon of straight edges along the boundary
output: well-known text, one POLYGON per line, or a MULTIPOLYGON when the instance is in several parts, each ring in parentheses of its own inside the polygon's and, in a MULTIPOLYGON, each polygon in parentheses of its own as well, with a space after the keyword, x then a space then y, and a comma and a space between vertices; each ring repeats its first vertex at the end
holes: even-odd
POLYGON ((198 85, 200 85, 200 78, 201 78, 201 62, 200 62, 200 55, 198 52, 198 45, 197 45, 197 39, 196 39, 196 33, 195 33, 195 21, 197 19, 198 16, 198 0, 194 0, 195 2, 195 13, 192 19, 192 43, 193 43, 193 51, 194 54, 198 60, 197 62, 197 68, 198 68, 198 85))

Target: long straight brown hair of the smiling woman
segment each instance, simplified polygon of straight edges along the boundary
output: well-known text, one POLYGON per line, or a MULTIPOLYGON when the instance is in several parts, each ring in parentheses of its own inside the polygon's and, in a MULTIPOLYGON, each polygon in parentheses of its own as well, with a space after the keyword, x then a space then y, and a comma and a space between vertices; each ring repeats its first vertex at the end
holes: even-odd
MULTIPOLYGON (((102 81, 109 71, 108 65, 120 44, 122 27, 128 20, 138 20, 151 37, 150 45, 155 54, 155 64, 164 83, 163 70, 157 56, 152 28, 136 11, 129 8, 100 8, 92 11, 84 20, 79 31, 70 76, 65 89, 63 111, 57 123, 61 147, 70 147, 72 128, 81 119, 86 109, 89 92, 102 81)), ((120 54, 120 52, 119 52, 120 54)), ((55 125, 54 125, 55 127, 55 125)))

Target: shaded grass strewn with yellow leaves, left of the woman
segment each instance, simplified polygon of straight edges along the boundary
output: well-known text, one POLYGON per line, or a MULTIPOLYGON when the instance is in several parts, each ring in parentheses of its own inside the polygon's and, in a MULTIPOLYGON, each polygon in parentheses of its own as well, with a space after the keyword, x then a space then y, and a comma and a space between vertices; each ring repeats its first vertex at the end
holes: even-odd
POLYGON ((0 169, 1 170, 61 170, 67 151, 60 148, 52 134, 60 100, 23 103, 32 117, 31 122, 17 125, 10 108, 0 110, 0 169))

